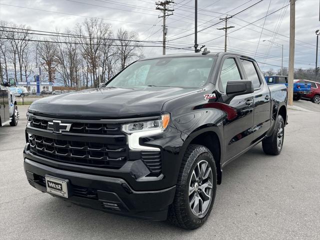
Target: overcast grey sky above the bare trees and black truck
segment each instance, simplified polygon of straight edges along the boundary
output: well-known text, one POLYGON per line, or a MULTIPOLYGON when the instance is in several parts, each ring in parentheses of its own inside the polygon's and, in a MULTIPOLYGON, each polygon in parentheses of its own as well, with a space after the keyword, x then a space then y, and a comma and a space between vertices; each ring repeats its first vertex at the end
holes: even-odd
MULTIPOLYGON (((154 2, 154 0, 0 0, 0 20, 25 24, 35 30, 55 31, 58 28, 63 32, 64 28, 73 28, 85 17, 98 17, 110 23, 114 33, 122 26, 138 32, 140 40, 160 41, 162 18, 158 18, 161 13, 155 10, 154 2)), ((198 0, 198 30, 219 22, 219 17, 224 17, 225 14, 235 14, 255 2, 258 0, 198 0)), ((234 28, 228 31, 228 50, 255 55, 256 60, 262 62, 259 63, 262 70, 276 69, 281 65, 281 48, 267 40, 274 41, 283 44, 283 66, 287 66, 290 9, 287 6, 276 11, 287 4, 288 0, 263 0, 229 19, 228 26, 234 28), (265 18, 267 14, 270 15, 265 18), (256 21, 259 18, 262 19, 256 21), (253 24, 249 24, 253 21, 255 21, 253 24)), ((194 32, 194 0, 174 0, 174 4, 171 5, 174 11, 166 20, 167 40, 194 32)), ((198 43, 205 42, 203 44, 211 52, 223 51, 224 31, 216 29, 223 26, 224 23, 219 23, 200 31, 198 43)), ((315 30, 319 27, 319 0, 297 0, 295 68, 315 66, 315 30)), ((192 34, 169 41, 168 46, 193 47, 193 42, 192 34)), ((186 51, 189 52, 167 49, 166 53, 186 51)), ((160 55, 162 48, 145 47, 143 53, 145 56, 160 55)))

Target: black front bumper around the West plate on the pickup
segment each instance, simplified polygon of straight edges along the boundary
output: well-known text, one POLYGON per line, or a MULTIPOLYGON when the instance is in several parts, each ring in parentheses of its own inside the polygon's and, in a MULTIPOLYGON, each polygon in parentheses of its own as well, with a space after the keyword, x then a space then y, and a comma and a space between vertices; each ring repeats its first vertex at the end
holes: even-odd
POLYGON ((30 185, 42 192, 46 192, 45 175, 68 179, 69 197, 62 199, 149 220, 166 219, 168 205, 172 203, 175 193, 175 186, 155 191, 136 191, 121 178, 53 168, 28 159, 25 154, 23 166, 30 185))

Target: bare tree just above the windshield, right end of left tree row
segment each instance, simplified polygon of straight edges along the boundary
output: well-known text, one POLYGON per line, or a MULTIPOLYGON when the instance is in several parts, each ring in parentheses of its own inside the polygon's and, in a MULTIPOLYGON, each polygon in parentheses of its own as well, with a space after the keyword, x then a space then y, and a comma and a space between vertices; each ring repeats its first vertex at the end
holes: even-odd
POLYGON ((121 60, 121 69, 123 69, 134 58, 141 57, 141 45, 134 41, 138 38, 138 34, 134 31, 129 32, 120 28, 116 36, 119 44, 117 49, 121 60))

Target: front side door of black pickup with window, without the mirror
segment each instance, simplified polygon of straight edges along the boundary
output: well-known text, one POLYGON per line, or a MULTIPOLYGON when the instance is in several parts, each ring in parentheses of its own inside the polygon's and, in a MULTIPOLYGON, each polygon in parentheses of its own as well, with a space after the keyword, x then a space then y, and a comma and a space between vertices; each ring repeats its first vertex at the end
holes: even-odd
POLYGON ((227 81, 244 79, 238 64, 239 61, 236 56, 225 58, 222 61, 218 80, 218 90, 221 93, 219 101, 222 103, 221 109, 224 112, 224 161, 228 161, 249 147, 253 139, 251 134, 253 94, 233 97, 225 94, 227 81))

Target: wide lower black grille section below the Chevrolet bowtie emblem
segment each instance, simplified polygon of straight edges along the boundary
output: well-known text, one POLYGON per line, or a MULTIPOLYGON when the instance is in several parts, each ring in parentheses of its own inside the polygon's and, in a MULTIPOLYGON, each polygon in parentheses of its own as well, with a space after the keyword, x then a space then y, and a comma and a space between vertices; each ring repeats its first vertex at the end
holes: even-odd
POLYGON ((31 153, 49 159, 79 165, 120 168, 127 160, 127 145, 59 140, 31 134, 31 153))

